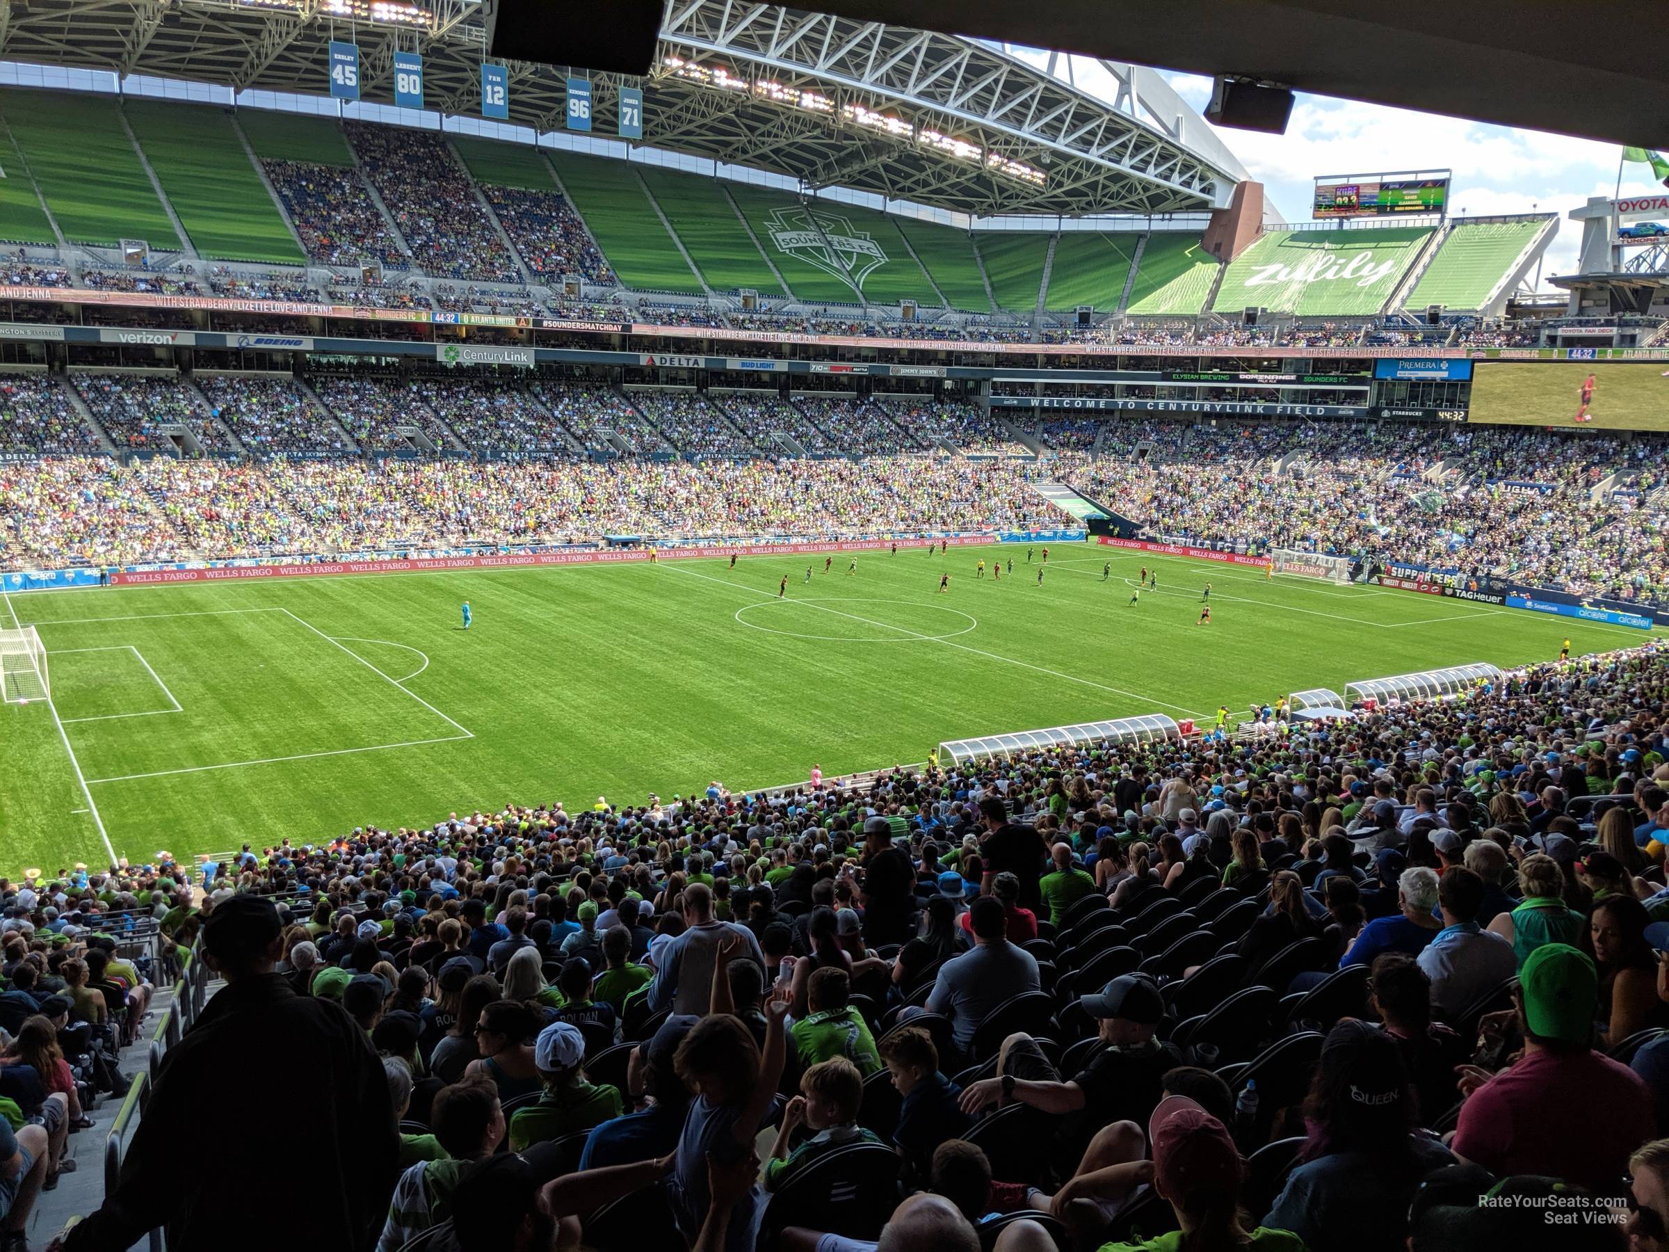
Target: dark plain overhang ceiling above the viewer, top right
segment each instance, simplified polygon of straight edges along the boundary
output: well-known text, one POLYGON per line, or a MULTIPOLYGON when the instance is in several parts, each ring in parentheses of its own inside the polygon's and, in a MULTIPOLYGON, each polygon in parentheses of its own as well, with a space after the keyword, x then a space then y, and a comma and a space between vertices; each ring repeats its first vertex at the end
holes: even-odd
POLYGON ((1669 147, 1662 8, 1636 0, 814 2, 855 20, 951 28, 1427 114, 1669 147))

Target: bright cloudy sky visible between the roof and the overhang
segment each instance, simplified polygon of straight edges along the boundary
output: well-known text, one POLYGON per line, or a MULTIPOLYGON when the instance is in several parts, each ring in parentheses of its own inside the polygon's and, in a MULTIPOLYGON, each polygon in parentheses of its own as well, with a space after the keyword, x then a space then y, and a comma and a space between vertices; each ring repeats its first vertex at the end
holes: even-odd
MULTIPOLYGON (((1110 82, 1085 57, 1073 58, 1073 72, 1080 87, 1097 93, 1103 93, 1097 77, 1110 82)), ((1210 98, 1210 78, 1190 73, 1165 77, 1197 112, 1210 98)), ((1559 235, 1547 249, 1544 275, 1569 274, 1576 267, 1582 229, 1566 214, 1589 195, 1616 190, 1621 155, 1616 144, 1303 93, 1283 135, 1228 129, 1217 134, 1263 184, 1277 215, 1288 222, 1308 219, 1317 174, 1415 169, 1454 170, 1450 214, 1557 212, 1559 235)), ((1649 167, 1622 167, 1626 195, 1651 190, 1662 187, 1651 177, 1649 167)))

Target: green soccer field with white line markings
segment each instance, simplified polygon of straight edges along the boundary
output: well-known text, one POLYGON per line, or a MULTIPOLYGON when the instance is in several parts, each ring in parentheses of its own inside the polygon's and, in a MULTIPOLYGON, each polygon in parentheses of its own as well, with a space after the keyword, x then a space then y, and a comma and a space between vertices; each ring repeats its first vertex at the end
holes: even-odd
POLYGON ((10 596, 52 703, 0 708, 0 873, 187 858, 504 803, 663 800, 941 740, 1227 703, 1641 631, 1056 544, 10 596), (976 563, 1013 574, 975 578, 976 563), (806 564, 813 564, 809 586, 806 564), (1102 566, 1112 563, 1103 583, 1102 566), (1142 566, 1158 589, 1130 606, 1142 566), (938 593, 941 573, 950 591, 938 593), (788 576, 788 598, 778 584, 788 576), (1212 583, 1213 621, 1197 626, 1212 583), (474 628, 461 628, 469 601, 474 628))

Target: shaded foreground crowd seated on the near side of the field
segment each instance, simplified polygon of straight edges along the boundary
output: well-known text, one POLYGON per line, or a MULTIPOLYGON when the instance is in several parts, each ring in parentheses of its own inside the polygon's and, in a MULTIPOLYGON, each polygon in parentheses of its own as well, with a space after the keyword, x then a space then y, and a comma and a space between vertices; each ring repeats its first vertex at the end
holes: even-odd
POLYGON ((227 985, 65 1252, 274 1152, 287 1244, 387 1252, 1656 1249, 1661 646, 1268 731, 0 880, 8 1249, 144 1020, 118 908, 227 985), (309 1117, 189 1132, 269 1058, 309 1117))

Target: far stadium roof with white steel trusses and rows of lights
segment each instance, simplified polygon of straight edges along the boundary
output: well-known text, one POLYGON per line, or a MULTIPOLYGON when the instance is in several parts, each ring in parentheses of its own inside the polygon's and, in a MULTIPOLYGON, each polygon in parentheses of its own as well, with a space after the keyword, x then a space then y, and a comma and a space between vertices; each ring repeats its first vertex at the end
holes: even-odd
MULTIPOLYGON (((362 98, 392 100, 394 52, 416 48, 426 103, 479 114, 474 0, 0 5, 0 58, 239 90, 324 93, 332 38, 359 43, 362 98)), ((561 130, 566 77, 511 62, 509 120, 561 130)), ((981 217, 1200 212, 1243 177, 1188 145, 1203 125, 1158 75, 1107 103, 976 40, 764 3, 671 0, 648 80, 591 78, 599 120, 644 88, 644 144, 981 217)))

